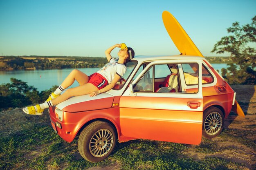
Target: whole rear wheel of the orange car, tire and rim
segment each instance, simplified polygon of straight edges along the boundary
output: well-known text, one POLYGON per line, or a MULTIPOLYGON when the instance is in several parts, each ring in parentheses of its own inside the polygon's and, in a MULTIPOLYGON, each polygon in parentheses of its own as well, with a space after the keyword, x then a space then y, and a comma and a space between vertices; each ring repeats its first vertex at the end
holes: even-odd
POLYGON ((216 137, 222 131, 224 116, 222 111, 216 107, 204 110, 202 135, 208 139, 216 137))

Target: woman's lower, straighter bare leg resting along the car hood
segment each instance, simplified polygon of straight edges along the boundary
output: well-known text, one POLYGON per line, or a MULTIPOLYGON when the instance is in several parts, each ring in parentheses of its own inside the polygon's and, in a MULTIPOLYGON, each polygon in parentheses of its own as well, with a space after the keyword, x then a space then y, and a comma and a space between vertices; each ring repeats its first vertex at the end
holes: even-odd
POLYGON ((87 95, 97 90, 99 89, 91 83, 86 83, 75 88, 69 88, 62 95, 52 99, 52 104, 56 105, 69 99, 70 97, 87 95))

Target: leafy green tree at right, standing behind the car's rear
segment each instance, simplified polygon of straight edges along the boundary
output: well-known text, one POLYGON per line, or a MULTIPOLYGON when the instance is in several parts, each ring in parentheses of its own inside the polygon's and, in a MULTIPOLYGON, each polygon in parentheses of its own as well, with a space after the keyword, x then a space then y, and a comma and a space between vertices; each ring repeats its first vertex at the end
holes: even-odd
POLYGON ((227 29, 231 35, 222 37, 211 51, 216 53, 230 53, 233 63, 227 71, 222 72, 230 84, 256 84, 256 50, 249 46, 256 43, 256 16, 252 23, 240 26, 234 22, 227 29))

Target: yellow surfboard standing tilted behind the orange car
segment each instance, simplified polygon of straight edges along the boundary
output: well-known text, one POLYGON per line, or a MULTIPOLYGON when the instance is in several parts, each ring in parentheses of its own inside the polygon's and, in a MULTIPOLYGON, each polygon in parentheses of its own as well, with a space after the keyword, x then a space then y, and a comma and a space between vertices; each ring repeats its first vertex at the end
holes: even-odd
MULTIPOLYGON (((171 39, 173 40, 173 43, 180 51, 180 53, 182 53, 182 55, 195 55, 204 57, 195 46, 189 35, 171 13, 169 13, 168 11, 164 11, 162 13, 162 18, 166 31, 168 32, 171 39)), ((234 106, 232 107, 232 110, 236 114, 245 117, 242 108, 236 100, 234 106)))

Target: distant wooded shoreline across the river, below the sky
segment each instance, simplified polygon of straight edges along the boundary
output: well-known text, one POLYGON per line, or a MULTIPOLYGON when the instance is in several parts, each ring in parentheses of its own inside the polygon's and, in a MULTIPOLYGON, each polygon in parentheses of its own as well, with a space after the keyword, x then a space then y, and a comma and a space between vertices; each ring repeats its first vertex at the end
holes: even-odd
MULTIPOLYGON (((231 57, 205 57, 211 64, 233 63, 231 57)), ((101 68, 106 57, 75 56, 0 56, 0 70, 52 70, 64 68, 101 68)))

